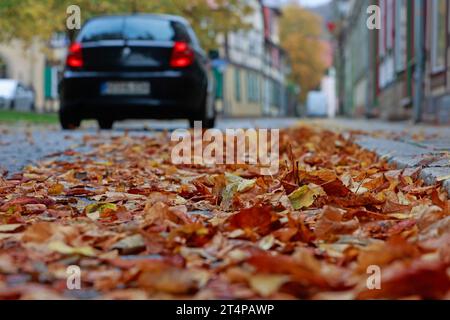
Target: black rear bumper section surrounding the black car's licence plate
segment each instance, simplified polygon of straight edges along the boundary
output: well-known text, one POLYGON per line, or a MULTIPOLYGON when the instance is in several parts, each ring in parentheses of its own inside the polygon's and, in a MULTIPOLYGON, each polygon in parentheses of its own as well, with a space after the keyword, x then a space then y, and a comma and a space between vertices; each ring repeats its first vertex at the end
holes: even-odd
POLYGON ((82 119, 189 118, 203 111, 206 86, 205 77, 182 71, 66 71, 60 86, 61 108, 70 109, 82 119), (102 95, 101 85, 107 81, 148 81, 151 93, 145 96, 102 95))

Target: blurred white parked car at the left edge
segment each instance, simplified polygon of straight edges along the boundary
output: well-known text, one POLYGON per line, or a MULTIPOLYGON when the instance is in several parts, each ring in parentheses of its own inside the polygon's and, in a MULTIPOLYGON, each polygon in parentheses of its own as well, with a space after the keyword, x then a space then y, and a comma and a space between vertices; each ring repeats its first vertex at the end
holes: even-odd
POLYGON ((0 109, 34 110, 34 92, 17 80, 0 79, 0 109))

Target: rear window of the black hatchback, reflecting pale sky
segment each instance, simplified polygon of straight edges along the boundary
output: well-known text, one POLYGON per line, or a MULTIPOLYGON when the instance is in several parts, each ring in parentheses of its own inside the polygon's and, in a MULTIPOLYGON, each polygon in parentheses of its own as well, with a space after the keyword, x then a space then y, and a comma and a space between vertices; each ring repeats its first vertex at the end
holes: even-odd
POLYGON ((181 23, 148 16, 91 20, 79 36, 81 42, 121 39, 190 42, 189 34, 181 23))

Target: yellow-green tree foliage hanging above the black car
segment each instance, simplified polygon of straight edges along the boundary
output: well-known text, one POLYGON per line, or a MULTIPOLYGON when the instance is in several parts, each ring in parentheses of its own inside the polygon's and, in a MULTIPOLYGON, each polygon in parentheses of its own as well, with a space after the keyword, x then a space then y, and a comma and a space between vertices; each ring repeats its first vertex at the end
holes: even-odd
POLYGON ((216 47, 218 34, 246 29, 242 17, 252 9, 242 0, 1 0, 0 40, 48 40, 66 30, 66 9, 78 5, 82 21, 102 14, 166 13, 185 17, 205 49, 216 47))

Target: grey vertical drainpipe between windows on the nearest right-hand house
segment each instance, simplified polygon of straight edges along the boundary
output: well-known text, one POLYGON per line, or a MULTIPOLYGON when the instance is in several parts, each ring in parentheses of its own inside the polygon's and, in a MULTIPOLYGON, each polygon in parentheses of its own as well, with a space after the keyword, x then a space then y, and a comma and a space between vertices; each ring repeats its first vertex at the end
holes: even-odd
POLYGON ((416 71, 414 73, 415 93, 414 93, 414 122, 422 121, 423 99, 423 77, 424 77, 424 50, 425 50, 425 1, 414 0, 414 34, 415 37, 415 56, 416 71))

